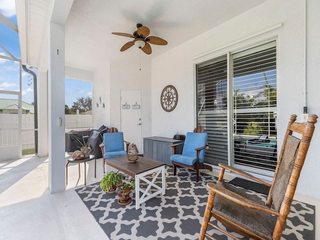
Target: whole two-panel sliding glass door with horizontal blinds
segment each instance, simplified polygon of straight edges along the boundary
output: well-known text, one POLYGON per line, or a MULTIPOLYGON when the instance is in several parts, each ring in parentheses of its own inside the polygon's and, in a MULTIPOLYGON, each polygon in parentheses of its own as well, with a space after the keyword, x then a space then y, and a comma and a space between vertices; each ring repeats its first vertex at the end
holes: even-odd
POLYGON ((197 125, 208 133, 205 161, 258 173, 273 171, 277 153, 275 41, 196 65, 196 86, 197 125))

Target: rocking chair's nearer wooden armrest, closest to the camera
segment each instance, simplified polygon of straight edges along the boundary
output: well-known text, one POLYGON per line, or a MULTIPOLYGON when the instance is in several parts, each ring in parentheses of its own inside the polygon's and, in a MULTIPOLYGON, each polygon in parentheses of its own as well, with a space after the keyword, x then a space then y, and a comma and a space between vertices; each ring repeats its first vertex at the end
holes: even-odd
POLYGON ((233 191, 230 191, 226 188, 224 188, 223 186, 220 186, 216 183, 213 183, 213 182, 208 182, 206 184, 206 187, 209 189, 209 191, 212 191, 212 192, 215 192, 216 194, 220 195, 220 196, 223 196, 241 206, 244 206, 244 207, 248 207, 248 208, 252 208, 252 209, 256 209, 256 210, 259 210, 259 211, 264 211, 264 212, 267 212, 267 213, 270 213, 272 215, 276 215, 276 216, 279 216, 280 213, 276 210, 273 210, 265 205, 261 205, 255 201, 252 201, 248 198, 245 198, 244 196, 241 196, 233 191))

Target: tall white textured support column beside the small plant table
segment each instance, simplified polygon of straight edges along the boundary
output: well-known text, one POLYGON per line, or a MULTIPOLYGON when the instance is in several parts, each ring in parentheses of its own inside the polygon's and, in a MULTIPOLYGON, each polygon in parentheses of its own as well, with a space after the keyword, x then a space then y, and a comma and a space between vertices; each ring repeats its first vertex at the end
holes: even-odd
POLYGON ((50 22, 48 36, 49 189, 65 189, 64 25, 50 22))

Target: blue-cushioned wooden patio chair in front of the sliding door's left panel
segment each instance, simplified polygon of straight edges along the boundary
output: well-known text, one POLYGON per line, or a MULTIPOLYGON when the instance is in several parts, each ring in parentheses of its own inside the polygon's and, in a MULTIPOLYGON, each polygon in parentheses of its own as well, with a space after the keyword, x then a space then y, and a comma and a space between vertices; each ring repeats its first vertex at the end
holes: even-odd
POLYGON ((173 155, 170 160, 173 165, 173 174, 176 174, 176 167, 182 166, 196 170, 196 182, 199 181, 199 169, 208 169, 212 167, 204 164, 204 151, 207 147, 208 134, 205 132, 187 132, 184 140, 182 154, 176 154, 176 146, 183 143, 172 144, 173 155))

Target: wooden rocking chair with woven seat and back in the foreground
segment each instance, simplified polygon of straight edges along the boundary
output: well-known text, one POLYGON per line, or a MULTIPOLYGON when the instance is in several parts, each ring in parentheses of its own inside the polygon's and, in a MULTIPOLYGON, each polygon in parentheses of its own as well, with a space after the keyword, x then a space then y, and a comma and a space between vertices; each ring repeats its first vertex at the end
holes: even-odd
POLYGON ((219 163, 221 170, 217 184, 207 183, 209 196, 200 230, 200 240, 205 236, 215 239, 206 233, 208 225, 232 239, 238 239, 210 222, 211 216, 234 232, 248 238, 263 240, 281 238, 316 118, 316 115, 309 115, 305 124, 295 122, 296 115, 291 115, 271 184, 239 169, 219 163), (302 136, 299 139, 296 135, 292 136, 292 132, 302 136), (225 169, 269 186, 266 203, 246 194, 241 188, 223 181, 225 169))

